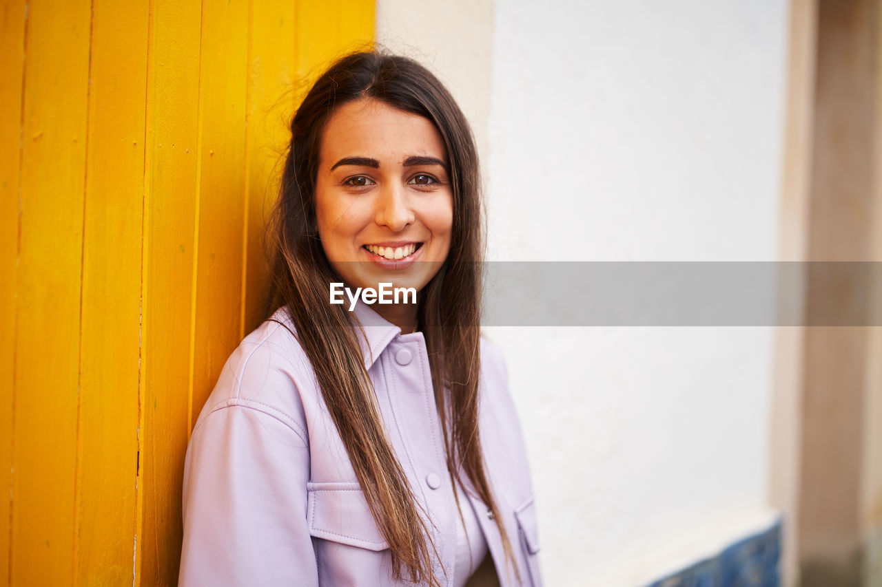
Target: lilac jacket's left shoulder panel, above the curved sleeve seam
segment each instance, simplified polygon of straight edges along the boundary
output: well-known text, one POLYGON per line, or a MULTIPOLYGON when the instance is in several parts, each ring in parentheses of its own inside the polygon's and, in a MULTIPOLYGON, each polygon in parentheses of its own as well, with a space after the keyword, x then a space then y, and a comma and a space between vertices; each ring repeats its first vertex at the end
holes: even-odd
POLYGON ((231 407, 263 412, 305 438, 301 394, 318 388, 310 360, 284 308, 251 332, 230 354, 194 427, 231 407))

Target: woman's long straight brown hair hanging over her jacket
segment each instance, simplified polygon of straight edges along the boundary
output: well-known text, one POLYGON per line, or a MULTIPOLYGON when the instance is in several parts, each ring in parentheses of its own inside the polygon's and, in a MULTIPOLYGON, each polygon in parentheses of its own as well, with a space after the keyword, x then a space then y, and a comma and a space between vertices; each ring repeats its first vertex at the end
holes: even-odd
MULTIPOLYGON (((318 78, 297 109, 270 231, 275 249, 272 307, 288 307, 295 336, 315 370, 370 512, 392 551, 395 578, 439 585, 431 564, 435 545, 380 420, 355 337, 354 316, 328 303, 328 284, 339 278, 318 239, 315 189, 325 124, 343 104, 364 98, 427 118, 447 149, 453 194, 451 247, 420 293, 417 318, 429 352, 451 479, 460 481, 461 466, 494 515, 505 559, 514 564, 490 491, 478 430, 484 245, 475 140, 450 93, 419 63, 377 52, 344 56, 318 78)), ((519 576, 516 564, 514 570, 519 576)))

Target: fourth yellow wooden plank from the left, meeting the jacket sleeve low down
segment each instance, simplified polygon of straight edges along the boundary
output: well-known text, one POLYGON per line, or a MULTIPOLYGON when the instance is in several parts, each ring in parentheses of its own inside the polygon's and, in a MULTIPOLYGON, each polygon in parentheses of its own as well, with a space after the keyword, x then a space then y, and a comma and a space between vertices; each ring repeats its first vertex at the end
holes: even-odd
POLYGON ((199 102, 198 0, 154 0, 148 52, 138 585, 174 585, 189 399, 199 102), (143 489, 142 489, 143 488, 143 489))

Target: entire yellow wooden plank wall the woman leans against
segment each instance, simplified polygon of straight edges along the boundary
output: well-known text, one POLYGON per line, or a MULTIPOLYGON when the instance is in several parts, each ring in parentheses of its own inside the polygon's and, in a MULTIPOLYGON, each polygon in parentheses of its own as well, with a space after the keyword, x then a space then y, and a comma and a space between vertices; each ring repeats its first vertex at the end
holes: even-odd
POLYGON ((2 0, 0 584, 176 583, 287 119, 373 30, 370 0, 2 0))

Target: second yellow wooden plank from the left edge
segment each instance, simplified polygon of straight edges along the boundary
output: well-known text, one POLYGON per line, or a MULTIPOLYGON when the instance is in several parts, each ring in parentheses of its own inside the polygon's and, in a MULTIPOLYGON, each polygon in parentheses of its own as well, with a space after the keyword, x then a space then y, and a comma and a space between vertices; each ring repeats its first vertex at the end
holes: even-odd
POLYGON ((49 0, 27 14, 13 584, 73 574, 90 12, 84 0, 49 0))

